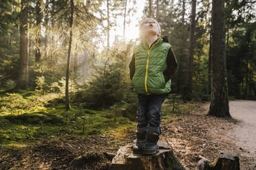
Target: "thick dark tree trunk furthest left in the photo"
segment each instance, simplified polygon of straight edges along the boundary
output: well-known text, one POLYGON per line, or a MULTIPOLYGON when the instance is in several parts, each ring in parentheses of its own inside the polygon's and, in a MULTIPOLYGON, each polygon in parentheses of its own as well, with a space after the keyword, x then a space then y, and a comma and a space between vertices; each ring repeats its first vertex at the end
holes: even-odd
POLYGON ((20 67, 18 88, 28 88, 28 1, 21 0, 20 67))

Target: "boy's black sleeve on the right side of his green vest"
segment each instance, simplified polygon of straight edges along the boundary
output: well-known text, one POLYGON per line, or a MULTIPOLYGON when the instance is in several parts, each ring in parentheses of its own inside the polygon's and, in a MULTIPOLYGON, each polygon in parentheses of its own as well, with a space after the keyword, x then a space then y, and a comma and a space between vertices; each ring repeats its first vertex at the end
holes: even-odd
POLYGON ((175 58, 172 48, 170 47, 167 54, 167 69, 163 72, 165 83, 167 83, 174 75, 178 68, 178 62, 175 58))

